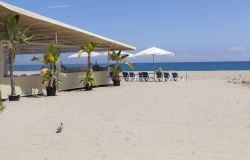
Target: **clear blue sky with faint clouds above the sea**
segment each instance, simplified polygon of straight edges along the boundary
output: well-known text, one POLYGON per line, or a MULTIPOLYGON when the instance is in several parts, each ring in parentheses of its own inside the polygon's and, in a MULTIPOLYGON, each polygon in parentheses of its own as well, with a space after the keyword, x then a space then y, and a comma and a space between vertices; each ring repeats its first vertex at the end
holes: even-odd
POLYGON ((250 60, 249 0, 5 2, 134 45, 135 52, 157 46, 176 53, 157 61, 250 60))

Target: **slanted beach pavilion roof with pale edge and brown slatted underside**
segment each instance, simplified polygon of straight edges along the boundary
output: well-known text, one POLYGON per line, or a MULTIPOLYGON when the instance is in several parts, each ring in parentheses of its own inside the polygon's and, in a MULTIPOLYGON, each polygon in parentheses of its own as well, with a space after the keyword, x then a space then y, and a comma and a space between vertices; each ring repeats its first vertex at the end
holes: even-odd
POLYGON ((49 42, 55 41, 62 52, 72 52, 87 42, 98 42, 96 51, 107 50, 134 50, 135 47, 118 42, 86 30, 41 16, 39 14, 15 7, 0 1, 0 32, 4 31, 4 18, 9 14, 20 15, 20 26, 30 26, 35 35, 28 45, 18 46, 18 53, 42 53, 49 42))

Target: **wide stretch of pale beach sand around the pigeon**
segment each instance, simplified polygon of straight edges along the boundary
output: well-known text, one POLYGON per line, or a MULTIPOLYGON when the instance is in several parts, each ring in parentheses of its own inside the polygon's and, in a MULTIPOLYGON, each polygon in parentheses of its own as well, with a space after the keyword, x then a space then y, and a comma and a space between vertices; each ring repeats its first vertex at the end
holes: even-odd
POLYGON ((22 98, 0 114, 0 159, 249 160, 249 97, 203 78, 22 98))

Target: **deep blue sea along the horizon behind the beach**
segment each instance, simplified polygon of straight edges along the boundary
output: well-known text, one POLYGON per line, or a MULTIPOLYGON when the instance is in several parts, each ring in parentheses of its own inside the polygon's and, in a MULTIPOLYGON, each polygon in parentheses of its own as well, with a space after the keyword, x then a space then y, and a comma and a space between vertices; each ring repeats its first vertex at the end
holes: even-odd
MULTIPOLYGON (((84 67, 86 64, 63 64, 68 68, 84 67)), ((98 64, 101 67, 107 64, 98 64)), ((127 65, 121 64, 123 71, 131 71, 127 65)), ((153 71, 161 67, 169 71, 226 71, 250 70, 250 61, 244 62, 169 62, 169 63, 134 63, 135 71, 153 71)), ((15 71, 38 71, 41 65, 15 65, 15 71)))

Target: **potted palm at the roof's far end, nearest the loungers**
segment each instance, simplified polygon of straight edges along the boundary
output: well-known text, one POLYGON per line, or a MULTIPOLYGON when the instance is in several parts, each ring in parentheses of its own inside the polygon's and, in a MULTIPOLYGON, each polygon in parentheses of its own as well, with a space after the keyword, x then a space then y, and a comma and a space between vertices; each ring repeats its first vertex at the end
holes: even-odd
POLYGON ((134 69, 134 65, 125 59, 128 57, 128 54, 121 54, 121 51, 113 52, 109 55, 109 58, 112 61, 115 61, 115 64, 111 65, 112 68, 112 81, 114 86, 120 86, 120 74, 122 73, 121 63, 128 65, 130 68, 134 69))

